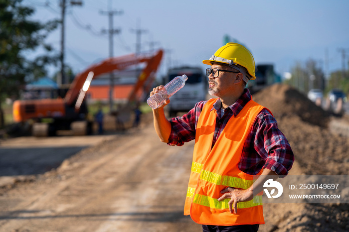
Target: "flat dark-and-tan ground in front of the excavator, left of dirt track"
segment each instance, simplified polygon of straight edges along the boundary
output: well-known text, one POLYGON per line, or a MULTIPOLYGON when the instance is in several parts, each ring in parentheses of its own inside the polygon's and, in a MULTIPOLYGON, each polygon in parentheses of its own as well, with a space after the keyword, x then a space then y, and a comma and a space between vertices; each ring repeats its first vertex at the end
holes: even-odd
MULTIPOLYGON (((4 176, 35 175, 57 168, 66 158, 114 135, 16 137, 0 141, 0 186, 4 176)), ((10 178, 6 178, 10 179, 10 178)))

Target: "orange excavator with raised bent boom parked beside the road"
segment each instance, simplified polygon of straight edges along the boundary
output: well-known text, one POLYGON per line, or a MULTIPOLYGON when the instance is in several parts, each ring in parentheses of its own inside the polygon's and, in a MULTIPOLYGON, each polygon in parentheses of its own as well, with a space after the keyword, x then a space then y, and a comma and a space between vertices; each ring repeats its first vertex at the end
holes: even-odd
POLYGON ((85 135, 91 131, 92 126, 88 120, 84 99, 93 77, 144 63, 145 67, 128 97, 127 105, 131 102, 139 102, 139 92, 147 91, 145 87, 149 88, 155 80, 155 73, 162 57, 163 50, 160 49, 150 55, 130 54, 105 59, 79 73, 74 78, 64 98, 15 101, 13 103, 13 119, 15 122, 33 120, 32 135, 34 136, 54 135, 57 130, 72 130, 75 135, 85 135), (42 120, 44 118, 46 120, 42 120))

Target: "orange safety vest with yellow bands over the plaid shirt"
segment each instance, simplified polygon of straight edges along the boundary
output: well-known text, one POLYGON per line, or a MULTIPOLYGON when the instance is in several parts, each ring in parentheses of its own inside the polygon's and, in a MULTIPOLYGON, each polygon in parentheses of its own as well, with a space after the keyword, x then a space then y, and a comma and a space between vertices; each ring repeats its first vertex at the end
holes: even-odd
MULTIPOLYGON (((264 107, 250 100, 237 116, 232 116, 211 149, 216 124, 216 99, 209 100, 199 116, 193 162, 184 205, 184 215, 198 224, 233 226, 264 224, 262 196, 239 202, 237 214, 229 212, 230 199, 218 201, 227 187, 247 189, 258 176, 239 170, 243 144, 252 124, 264 107)), ((262 170, 257 174, 260 175, 262 170)))

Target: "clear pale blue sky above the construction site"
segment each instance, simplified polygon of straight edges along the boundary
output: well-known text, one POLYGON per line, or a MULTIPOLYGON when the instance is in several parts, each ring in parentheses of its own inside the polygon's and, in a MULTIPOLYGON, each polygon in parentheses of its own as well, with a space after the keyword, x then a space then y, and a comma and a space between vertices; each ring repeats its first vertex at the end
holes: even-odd
MULTIPOLYGON (((226 34, 246 45, 256 64, 273 63, 280 74, 309 58, 319 61, 325 72, 341 69, 339 48, 347 49, 349 58, 349 0, 82 1, 83 6, 68 7, 66 14, 65 62, 75 72, 109 56, 108 36, 96 35, 108 28, 108 17, 100 13, 108 9, 123 10, 114 16, 114 27, 121 29, 114 36, 114 55, 135 52, 132 29, 147 30, 142 34, 142 50, 149 50, 155 41, 155 48, 166 51, 160 73, 169 66, 205 67, 201 61, 223 45, 226 34), (82 28, 86 25, 91 30, 82 28)), ((23 3, 36 8, 35 19, 60 17, 59 0, 23 3)), ((47 42, 59 50, 60 30, 47 42)))

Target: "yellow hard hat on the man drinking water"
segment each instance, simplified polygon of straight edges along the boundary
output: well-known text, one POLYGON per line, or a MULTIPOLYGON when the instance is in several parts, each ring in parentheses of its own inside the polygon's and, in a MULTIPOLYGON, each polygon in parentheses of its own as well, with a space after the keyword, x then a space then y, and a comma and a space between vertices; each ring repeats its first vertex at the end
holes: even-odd
POLYGON ((242 66, 246 68, 249 75, 244 75, 244 81, 256 79, 254 58, 249 50, 238 43, 227 43, 220 47, 211 58, 203 60, 202 63, 212 65, 212 61, 228 64, 239 71, 242 66), (246 79, 246 76, 248 79, 246 79))

